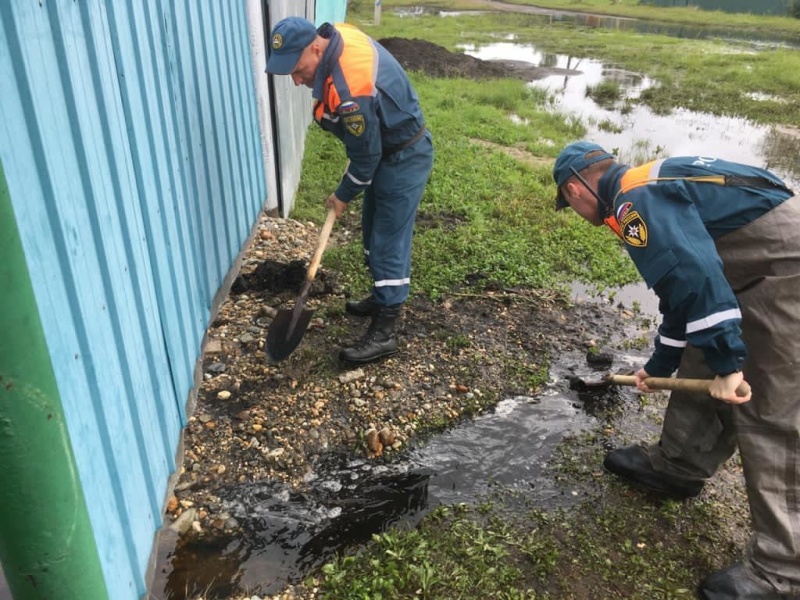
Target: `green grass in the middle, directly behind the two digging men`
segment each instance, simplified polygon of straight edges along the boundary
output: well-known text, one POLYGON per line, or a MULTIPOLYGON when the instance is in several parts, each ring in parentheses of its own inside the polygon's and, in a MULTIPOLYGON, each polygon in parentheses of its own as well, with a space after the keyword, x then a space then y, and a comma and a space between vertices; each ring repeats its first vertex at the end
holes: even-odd
MULTIPOLYGON (((437 298, 467 279, 479 287, 531 288, 637 280, 613 236, 571 211, 553 210, 553 160, 566 140, 581 136, 582 126, 548 113, 542 92, 519 81, 412 78, 436 148, 414 239, 414 293, 437 298)), ((344 151, 317 127, 310 128, 306 148, 295 216, 319 220, 322 200, 342 173, 344 151)), ((354 239, 327 251, 324 260, 365 291, 361 256, 354 239)))

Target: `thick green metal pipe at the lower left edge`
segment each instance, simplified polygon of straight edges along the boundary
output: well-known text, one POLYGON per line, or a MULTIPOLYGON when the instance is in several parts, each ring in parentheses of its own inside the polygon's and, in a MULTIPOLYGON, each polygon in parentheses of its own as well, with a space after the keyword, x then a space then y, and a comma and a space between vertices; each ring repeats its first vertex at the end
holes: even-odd
POLYGON ((0 164, 0 563, 15 600, 107 600, 0 164))

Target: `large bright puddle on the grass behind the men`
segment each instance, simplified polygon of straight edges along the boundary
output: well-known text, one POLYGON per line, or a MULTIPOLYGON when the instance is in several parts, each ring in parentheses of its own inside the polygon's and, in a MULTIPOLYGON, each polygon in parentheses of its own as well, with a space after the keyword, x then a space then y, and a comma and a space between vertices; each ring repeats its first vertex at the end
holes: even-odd
POLYGON ((482 60, 513 59, 575 71, 537 79, 530 85, 550 92, 555 110, 579 117, 587 128, 585 137, 615 151, 623 163, 639 164, 665 156, 714 156, 766 167, 783 177, 789 187, 800 188, 800 129, 756 125, 746 119, 680 108, 657 115, 637 103, 601 106, 586 96, 587 88, 613 81, 625 98, 636 98, 655 82, 598 60, 545 54, 529 44, 501 42, 462 48, 482 60))

